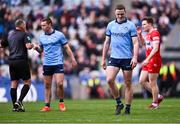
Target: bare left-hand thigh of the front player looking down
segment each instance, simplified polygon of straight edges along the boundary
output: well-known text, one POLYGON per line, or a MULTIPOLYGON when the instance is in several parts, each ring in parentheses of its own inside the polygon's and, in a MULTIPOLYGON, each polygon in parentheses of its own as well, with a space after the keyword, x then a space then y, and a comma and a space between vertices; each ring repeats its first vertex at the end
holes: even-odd
POLYGON ((114 81, 116 78, 116 75, 118 74, 120 68, 115 67, 115 66, 107 66, 106 68, 106 80, 109 81, 114 81))

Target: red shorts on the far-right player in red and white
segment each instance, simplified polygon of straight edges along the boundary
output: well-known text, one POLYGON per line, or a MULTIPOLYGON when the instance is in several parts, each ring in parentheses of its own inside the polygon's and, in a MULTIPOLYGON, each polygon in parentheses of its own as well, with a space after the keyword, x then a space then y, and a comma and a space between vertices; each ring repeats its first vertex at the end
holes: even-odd
POLYGON ((150 62, 146 66, 142 67, 142 70, 148 71, 148 73, 159 73, 161 69, 161 63, 162 63, 161 58, 154 57, 150 60, 150 62))

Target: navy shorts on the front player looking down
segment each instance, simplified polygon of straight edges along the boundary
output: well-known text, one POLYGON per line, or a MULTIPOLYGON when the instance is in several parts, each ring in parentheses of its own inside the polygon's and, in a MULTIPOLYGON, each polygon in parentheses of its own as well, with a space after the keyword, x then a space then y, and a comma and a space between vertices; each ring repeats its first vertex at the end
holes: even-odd
POLYGON ((122 70, 132 70, 130 63, 131 63, 131 59, 109 58, 108 66, 118 67, 121 68, 122 70))

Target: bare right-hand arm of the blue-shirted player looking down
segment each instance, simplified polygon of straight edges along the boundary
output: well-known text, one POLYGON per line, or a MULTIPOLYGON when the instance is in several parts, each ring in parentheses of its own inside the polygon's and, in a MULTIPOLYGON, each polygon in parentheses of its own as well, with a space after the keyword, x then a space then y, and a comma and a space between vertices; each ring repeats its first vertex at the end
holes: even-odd
POLYGON ((131 66, 132 68, 136 67, 137 65, 137 57, 138 57, 138 51, 139 51, 139 42, 138 42, 138 38, 137 37, 132 37, 132 41, 133 41, 133 57, 131 60, 131 66))

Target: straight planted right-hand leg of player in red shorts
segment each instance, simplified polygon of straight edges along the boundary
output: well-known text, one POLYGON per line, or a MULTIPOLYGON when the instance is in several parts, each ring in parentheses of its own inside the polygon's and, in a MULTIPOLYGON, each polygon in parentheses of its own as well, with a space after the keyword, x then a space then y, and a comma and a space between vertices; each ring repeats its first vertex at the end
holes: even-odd
POLYGON ((149 83, 152 89, 152 98, 153 98, 153 103, 150 106, 150 108, 152 109, 158 108, 159 88, 157 85, 157 78, 158 78, 158 73, 149 73, 149 83))

